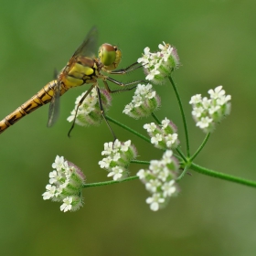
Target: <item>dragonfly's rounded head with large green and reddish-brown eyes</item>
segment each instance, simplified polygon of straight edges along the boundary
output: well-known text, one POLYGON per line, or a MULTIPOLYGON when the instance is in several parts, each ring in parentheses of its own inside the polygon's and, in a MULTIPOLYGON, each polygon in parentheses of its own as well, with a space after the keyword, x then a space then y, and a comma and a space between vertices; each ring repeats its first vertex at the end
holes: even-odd
POLYGON ((103 44, 99 48, 99 59, 103 64, 103 69, 112 71, 116 69, 122 57, 121 50, 110 44, 103 44))

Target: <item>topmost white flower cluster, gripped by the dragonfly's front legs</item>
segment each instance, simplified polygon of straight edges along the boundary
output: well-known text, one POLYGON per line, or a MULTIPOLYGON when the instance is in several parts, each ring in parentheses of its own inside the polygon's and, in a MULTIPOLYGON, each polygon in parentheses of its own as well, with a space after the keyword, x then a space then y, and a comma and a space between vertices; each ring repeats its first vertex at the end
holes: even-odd
POLYGON ((165 79, 179 65, 179 58, 176 53, 176 48, 169 44, 158 45, 160 51, 155 53, 150 52, 150 48, 144 48, 142 58, 139 58, 138 63, 142 63, 144 72, 147 75, 146 80, 150 80, 155 84, 163 84, 165 79))

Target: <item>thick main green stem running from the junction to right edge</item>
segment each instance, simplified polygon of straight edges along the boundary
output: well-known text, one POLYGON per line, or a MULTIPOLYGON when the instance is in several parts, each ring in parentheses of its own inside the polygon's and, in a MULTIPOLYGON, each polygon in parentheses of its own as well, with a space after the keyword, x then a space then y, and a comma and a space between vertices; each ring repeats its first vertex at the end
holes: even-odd
POLYGON ((235 182, 235 183, 239 183, 242 185, 246 185, 248 187, 256 187, 256 182, 254 182, 254 181, 251 181, 248 179, 243 179, 238 176, 229 176, 229 175, 226 175, 223 173, 215 172, 213 170, 210 170, 208 168, 205 168, 200 165, 193 164, 193 163, 190 165, 189 168, 194 170, 195 172, 203 174, 203 175, 217 177, 220 179, 228 180, 230 182, 235 182))

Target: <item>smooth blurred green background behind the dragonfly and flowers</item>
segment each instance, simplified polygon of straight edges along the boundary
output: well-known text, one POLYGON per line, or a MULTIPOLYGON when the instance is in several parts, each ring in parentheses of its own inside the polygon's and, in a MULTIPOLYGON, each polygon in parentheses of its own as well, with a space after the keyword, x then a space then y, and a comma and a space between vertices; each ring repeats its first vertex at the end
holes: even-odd
MULTIPOLYGON (((194 152, 204 138, 193 122, 188 101, 219 84, 232 95, 231 115, 212 134, 196 163, 256 180, 255 152, 255 1, 1 1, 0 116, 14 111, 39 91, 53 70, 61 69, 92 26, 99 44, 118 44, 124 68, 144 47, 163 40, 176 46, 182 66, 174 75, 187 112, 194 152)), ((142 70, 123 80, 142 79, 142 70)), ((66 122, 75 98, 88 87, 61 97, 58 123, 46 127, 48 106, 1 134, 0 251, 2 255, 255 255, 255 189, 193 173, 164 210, 152 212, 148 193, 138 181, 83 191, 85 205, 74 213, 43 201, 56 155, 79 165, 87 181, 107 180, 99 168, 103 143, 112 134, 99 127, 66 122)), ((170 84, 157 88, 159 118, 183 129, 170 84)), ((133 92, 113 96, 109 115, 144 133, 147 120, 122 114, 133 92)), ((120 140, 132 139, 139 159, 161 153, 112 124, 120 140)), ((145 133, 144 133, 145 134, 145 133)), ((185 148, 184 143, 182 144, 185 148)), ((140 165, 131 167, 132 175, 140 165)))

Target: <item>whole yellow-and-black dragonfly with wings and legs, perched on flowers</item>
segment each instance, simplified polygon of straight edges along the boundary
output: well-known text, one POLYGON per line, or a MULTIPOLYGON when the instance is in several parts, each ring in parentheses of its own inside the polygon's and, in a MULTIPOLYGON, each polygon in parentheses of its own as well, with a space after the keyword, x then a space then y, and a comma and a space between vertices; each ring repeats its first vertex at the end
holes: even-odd
MULTIPOLYGON (((11 112, 2 121, 0 121, 0 133, 5 132, 8 127, 48 102, 50 102, 48 110, 48 127, 52 126, 54 123, 56 123, 59 117, 60 96, 69 91, 69 89, 81 86, 83 84, 91 84, 91 88, 80 100, 80 103, 76 109, 76 115, 82 101, 84 101, 93 88, 96 88, 101 107, 101 114, 111 129, 105 118, 104 110, 101 104, 101 94, 98 80, 103 81, 105 88, 110 93, 130 91, 136 87, 136 84, 142 82, 143 80, 123 83, 121 81, 112 79, 109 77, 109 75, 123 75, 142 66, 138 62, 134 62, 126 69, 117 69, 122 59, 122 52, 119 48, 117 48, 117 46, 108 43, 101 45, 98 52, 98 58, 95 58, 95 52, 97 51, 97 39, 98 29, 97 27, 92 27, 80 47, 77 48, 75 53, 69 59, 67 65, 61 69, 58 75, 56 75, 56 79, 48 82, 48 84, 38 91, 30 100, 20 105, 14 112, 11 112), (108 81, 120 86, 122 89, 111 90, 108 85, 108 81)), ((75 119, 69 130, 69 134, 74 127, 75 119)))

